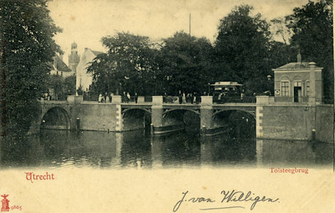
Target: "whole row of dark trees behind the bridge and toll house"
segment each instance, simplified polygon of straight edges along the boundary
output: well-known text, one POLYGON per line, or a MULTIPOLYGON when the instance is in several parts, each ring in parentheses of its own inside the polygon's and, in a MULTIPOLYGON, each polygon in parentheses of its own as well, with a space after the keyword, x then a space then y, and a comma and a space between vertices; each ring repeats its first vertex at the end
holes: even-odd
POLYGON ((235 81, 245 85, 247 95, 260 94, 272 90, 267 79, 273 77, 272 69, 297 62, 300 51, 303 60, 324 67, 324 92, 333 99, 332 1, 309 1, 270 22, 252 12, 252 6, 235 6, 220 20, 214 43, 183 31, 161 42, 124 32, 103 37, 107 53, 88 67, 93 76, 90 92, 174 95, 235 81))

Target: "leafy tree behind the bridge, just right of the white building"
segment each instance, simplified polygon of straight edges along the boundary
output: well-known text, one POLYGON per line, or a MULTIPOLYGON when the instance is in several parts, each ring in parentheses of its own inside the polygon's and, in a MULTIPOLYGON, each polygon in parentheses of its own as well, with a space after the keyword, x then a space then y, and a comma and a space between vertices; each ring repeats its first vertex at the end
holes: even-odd
POLYGON ((119 89, 132 94, 154 92, 159 72, 155 64, 157 50, 148 37, 116 33, 113 37, 102 38, 102 44, 108 48, 107 53, 97 55, 87 69, 94 81, 91 90, 99 93, 119 89))

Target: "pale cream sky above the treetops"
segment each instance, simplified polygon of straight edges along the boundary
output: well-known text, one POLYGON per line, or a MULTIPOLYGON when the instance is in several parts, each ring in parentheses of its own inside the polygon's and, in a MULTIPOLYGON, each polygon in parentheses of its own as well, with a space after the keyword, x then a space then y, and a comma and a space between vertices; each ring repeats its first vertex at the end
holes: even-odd
POLYGON ((261 13, 267 21, 293 13, 308 0, 53 0, 48 4, 50 16, 63 32, 54 39, 65 52, 68 64, 71 44, 78 44, 78 54, 85 48, 105 52, 102 37, 116 32, 149 36, 153 40, 168 38, 177 31, 206 37, 212 43, 218 32, 220 19, 241 4, 253 6, 253 13, 261 13))

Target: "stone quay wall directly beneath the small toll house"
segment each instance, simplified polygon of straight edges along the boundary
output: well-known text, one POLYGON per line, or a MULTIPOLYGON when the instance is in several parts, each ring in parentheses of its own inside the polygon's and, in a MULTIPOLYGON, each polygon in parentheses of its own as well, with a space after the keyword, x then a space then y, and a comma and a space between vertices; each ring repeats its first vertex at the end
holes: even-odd
POLYGON ((334 143, 334 107, 331 105, 265 105, 257 107, 256 115, 257 138, 312 140, 315 129, 317 141, 334 143))

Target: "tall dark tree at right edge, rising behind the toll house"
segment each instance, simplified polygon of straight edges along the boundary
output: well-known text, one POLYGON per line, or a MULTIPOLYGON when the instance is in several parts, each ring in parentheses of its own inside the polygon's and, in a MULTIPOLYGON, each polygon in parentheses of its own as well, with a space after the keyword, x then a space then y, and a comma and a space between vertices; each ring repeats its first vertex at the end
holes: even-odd
POLYGON ((324 95, 334 101, 333 1, 309 1, 285 21, 294 33, 292 47, 301 51, 304 60, 324 67, 324 95))

